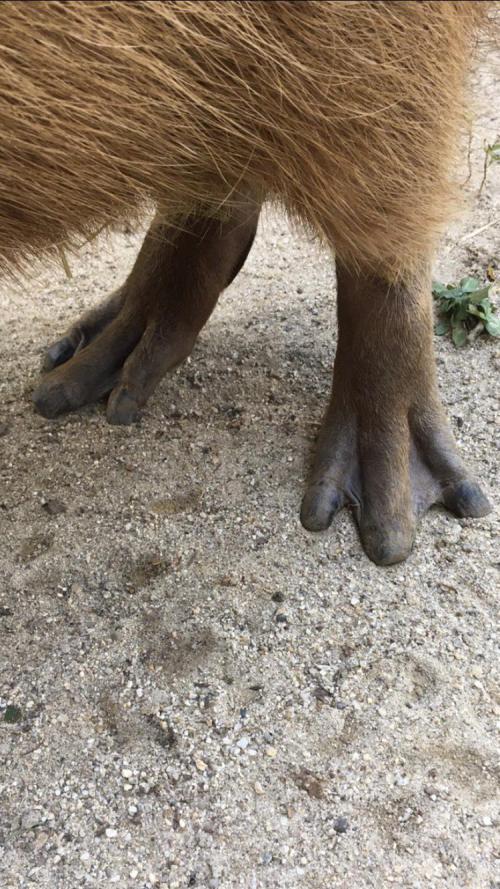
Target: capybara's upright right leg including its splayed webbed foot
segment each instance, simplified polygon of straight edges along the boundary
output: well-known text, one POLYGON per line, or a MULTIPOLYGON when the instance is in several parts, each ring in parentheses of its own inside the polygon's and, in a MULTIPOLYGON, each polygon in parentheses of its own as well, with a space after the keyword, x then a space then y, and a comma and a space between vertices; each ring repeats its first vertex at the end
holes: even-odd
POLYGON ((330 405, 302 524, 328 527, 354 507, 380 565, 406 558, 419 516, 442 503, 482 516, 488 500, 461 462, 440 403, 427 272, 406 284, 337 267, 339 341, 330 405))

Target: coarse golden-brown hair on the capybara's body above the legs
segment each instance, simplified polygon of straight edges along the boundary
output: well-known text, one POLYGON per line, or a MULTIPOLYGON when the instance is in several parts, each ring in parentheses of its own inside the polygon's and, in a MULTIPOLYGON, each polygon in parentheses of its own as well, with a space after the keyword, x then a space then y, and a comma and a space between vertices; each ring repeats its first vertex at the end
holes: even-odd
POLYGON ((490 5, 2 2, 1 267, 250 194, 345 264, 411 270, 448 216, 490 5))

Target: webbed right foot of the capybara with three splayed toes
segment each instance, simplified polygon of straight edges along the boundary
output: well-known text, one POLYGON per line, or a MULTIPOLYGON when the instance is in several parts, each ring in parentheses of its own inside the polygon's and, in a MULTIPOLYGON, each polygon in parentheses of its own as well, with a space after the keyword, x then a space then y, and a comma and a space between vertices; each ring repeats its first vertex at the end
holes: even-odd
POLYGON ((310 531, 350 505, 366 554, 378 565, 405 559, 420 516, 443 504, 460 518, 491 506, 461 464, 439 405, 373 422, 369 408, 331 411, 301 508, 310 531))

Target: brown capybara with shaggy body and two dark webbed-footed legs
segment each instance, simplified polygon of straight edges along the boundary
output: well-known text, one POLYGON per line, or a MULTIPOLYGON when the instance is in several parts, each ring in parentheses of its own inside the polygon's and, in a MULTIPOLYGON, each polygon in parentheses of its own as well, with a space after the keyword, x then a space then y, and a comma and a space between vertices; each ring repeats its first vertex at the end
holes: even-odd
POLYGON ((344 504, 404 559, 433 503, 489 504, 436 386, 430 269, 480 2, 2 2, 0 260, 156 208, 125 283, 52 345, 54 417, 110 393, 130 423, 189 355, 266 200, 335 255, 333 389, 301 520, 344 504))

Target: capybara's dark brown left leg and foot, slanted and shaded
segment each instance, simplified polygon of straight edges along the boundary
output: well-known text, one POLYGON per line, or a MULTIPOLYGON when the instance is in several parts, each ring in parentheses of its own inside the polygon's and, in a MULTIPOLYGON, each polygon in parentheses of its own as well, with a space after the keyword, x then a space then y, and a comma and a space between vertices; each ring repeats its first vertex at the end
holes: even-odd
POLYGON ((245 262, 258 216, 245 202, 229 219, 193 219, 182 231, 155 221, 125 284, 50 347, 50 372, 33 396, 40 413, 55 417, 111 392, 110 422, 132 422, 190 354, 245 262))

